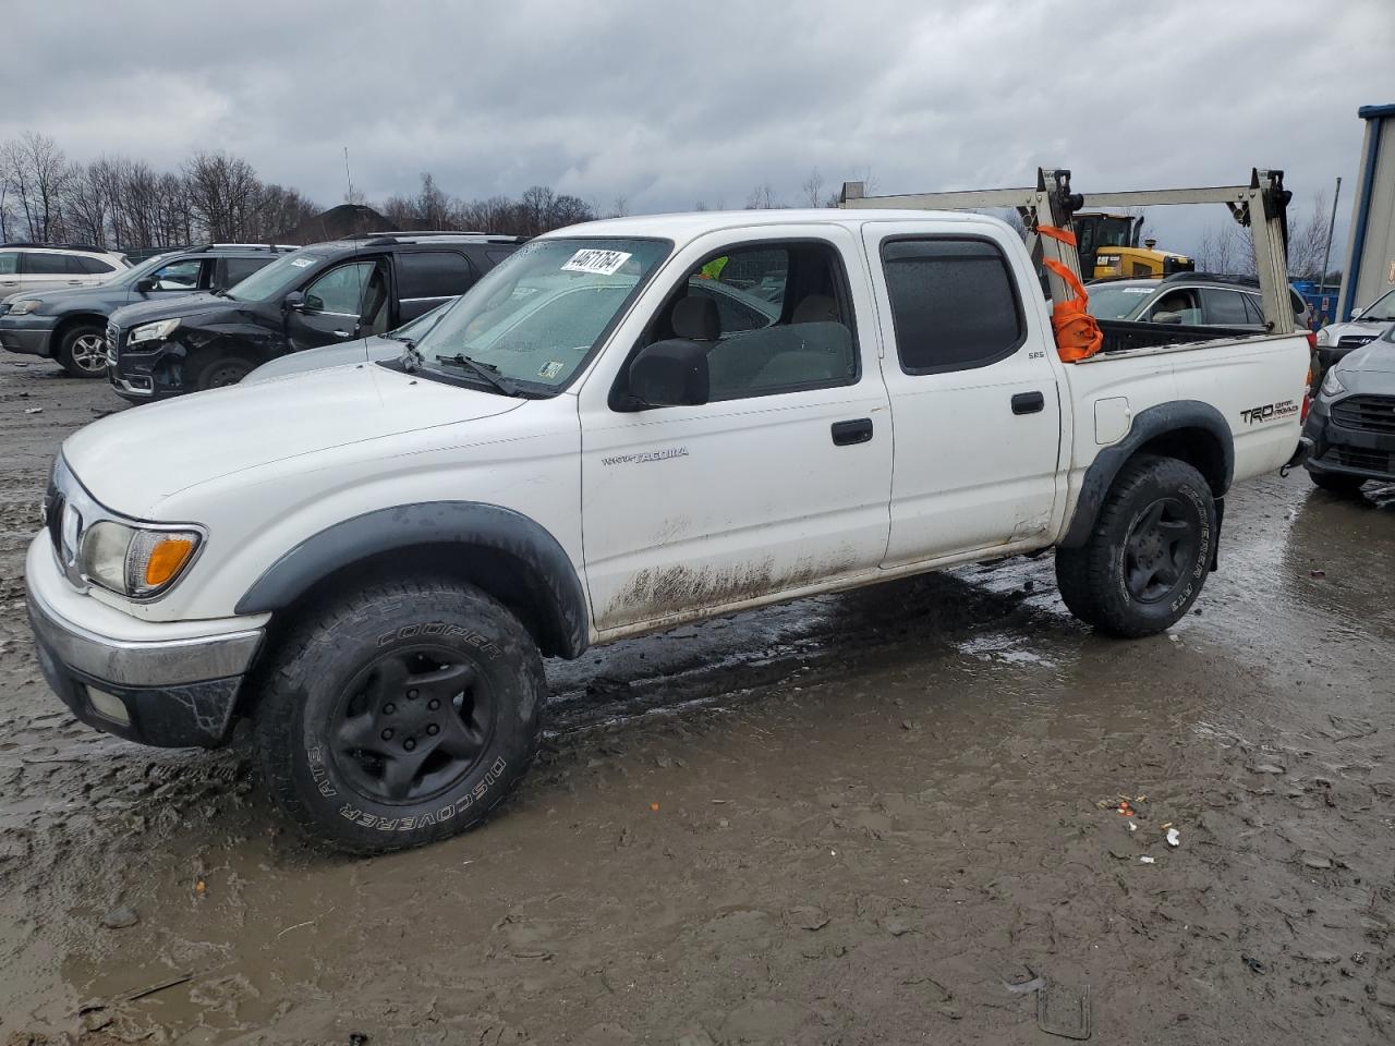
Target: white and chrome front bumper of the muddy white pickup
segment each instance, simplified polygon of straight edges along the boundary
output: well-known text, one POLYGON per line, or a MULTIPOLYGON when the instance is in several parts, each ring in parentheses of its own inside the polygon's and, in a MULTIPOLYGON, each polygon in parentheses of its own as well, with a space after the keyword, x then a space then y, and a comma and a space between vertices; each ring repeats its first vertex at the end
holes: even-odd
POLYGON ((265 616, 197 626, 128 618, 67 584, 46 533, 29 545, 25 589, 39 668, 77 718, 160 748, 227 741, 265 616))

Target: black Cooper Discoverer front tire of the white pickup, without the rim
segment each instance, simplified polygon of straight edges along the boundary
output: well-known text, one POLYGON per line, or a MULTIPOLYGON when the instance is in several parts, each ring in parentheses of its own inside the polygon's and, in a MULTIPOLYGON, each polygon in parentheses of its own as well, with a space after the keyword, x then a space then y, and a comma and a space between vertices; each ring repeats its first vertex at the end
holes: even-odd
MULTIPOLYGON (((547 697, 541 655, 518 618, 483 591, 431 580, 375 584, 308 612, 272 653, 261 678, 255 738, 272 796, 311 838, 352 854, 434 842, 484 820, 533 761, 547 697), (431 795, 389 802, 382 798, 386 791, 382 781, 388 780, 385 767, 395 757, 379 759, 357 748, 346 752, 350 742, 345 736, 352 724, 370 714, 350 711, 364 708, 378 692, 374 665, 392 665, 398 655, 413 664, 412 658, 421 655, 410 651, 423 647, 439 651, 432 658, 445 661, 445 671, 472 674, 473 682, 462 690, 462 697, 469 692, 470 700, 477 702, 487 692, 491 724, 488 731, 480 731, 485 738, 480 755, 472 756, 473 761, 460 760, 459 777, 431 795), (368 683, 363 682, 365 678, 368 683), (372 782, 365 766, 381 766, 382 781, 372 782)), ((427 678, 409 675, 402 686, 427 678)), ((448 688, 456 685, 449 682, 448 688)), ((431 690, 421 690, 427 693, 431 690)), ((417 690, 403 689, 403 695, 402 708, 379 703, 372 714, 384 708, 403 713, 407 695, 418 713, 428 714, 417 690)), ((370 743, 388 748, 388 742, 379 745, 378 736, 392 731, 377 734, 388 720, 372 722, 370 743)), ((414 732, 423 746, 439 745, 444 752, 444 739, 425 736, 431 725, 423 727, 418 717, 416 725, 405 725, 403 734, 414 732)), ((441 731, 437 727, 432 734, 441 731)), ((406 745, 402 736, 392 741, 406 745)), ((393 752, 402 755, 400 749, 393 752)), ((442 757, 449 755, 432 748, 427 760, 442 757)), ((405 755, 403 760, 406 764, 405 755)), ((456 771, 448 767, 439 773, 456 771)))

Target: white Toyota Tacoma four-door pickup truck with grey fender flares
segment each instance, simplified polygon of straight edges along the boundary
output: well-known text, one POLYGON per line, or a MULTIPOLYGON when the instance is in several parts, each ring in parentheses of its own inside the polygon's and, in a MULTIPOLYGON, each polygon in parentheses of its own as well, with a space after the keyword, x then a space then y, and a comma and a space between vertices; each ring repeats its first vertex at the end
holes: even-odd
POLYGON ((27 563, 75 715, 251 717, 280 805, 356 852, 505 796, 544 655, 1050 545, 1078 618, 1166 629, 1309 370, 1302 335, 1063 364, 1021 238, 921 211, 573 226, 405 349, 89 425, 27 563))

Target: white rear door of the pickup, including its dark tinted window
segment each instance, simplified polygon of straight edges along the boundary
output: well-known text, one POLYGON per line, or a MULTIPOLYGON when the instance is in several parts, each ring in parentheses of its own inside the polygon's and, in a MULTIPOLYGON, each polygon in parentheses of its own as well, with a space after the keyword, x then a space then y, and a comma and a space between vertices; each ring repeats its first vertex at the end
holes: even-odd
POLYGON ((1010 233, 964 227, 864 226, 896 438, 884 566, 1045 543, 1052 523, 1056 370, 1020 290, 1039 285, 1010 233))

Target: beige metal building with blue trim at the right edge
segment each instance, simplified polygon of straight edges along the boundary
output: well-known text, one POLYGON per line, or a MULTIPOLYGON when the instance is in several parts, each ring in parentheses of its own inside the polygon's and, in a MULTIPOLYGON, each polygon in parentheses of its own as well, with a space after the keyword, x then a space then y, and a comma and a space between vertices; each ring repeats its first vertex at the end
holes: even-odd
POLYGON ((1339 319, 1395 289, 1395 105, 1362 106, 1356 114, 1366 121, 1366 141, 1342 266, 1339 319))

